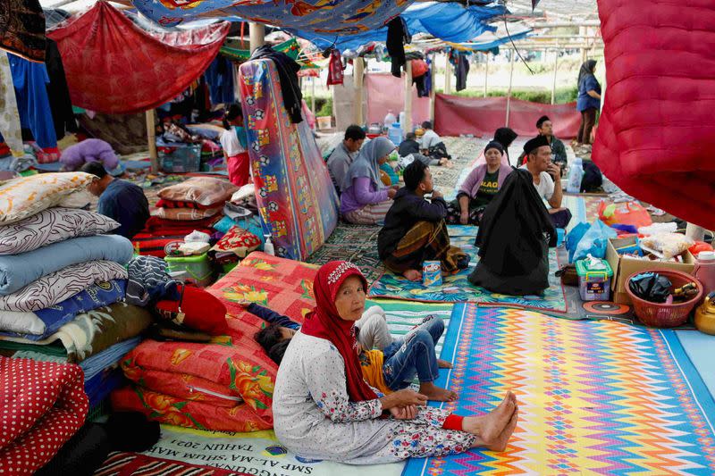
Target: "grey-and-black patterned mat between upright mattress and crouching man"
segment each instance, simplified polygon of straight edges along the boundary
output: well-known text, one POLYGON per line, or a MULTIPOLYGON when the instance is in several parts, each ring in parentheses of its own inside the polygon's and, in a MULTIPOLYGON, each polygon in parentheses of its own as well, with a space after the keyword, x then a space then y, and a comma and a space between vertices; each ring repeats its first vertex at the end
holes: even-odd
POLYGON ((368 283, 383 275, 384 266, 377 255, 377 234, 380 227, 339 222, 330 238, 306 262, 323 265, 342 260, 357 264, 368 283))

